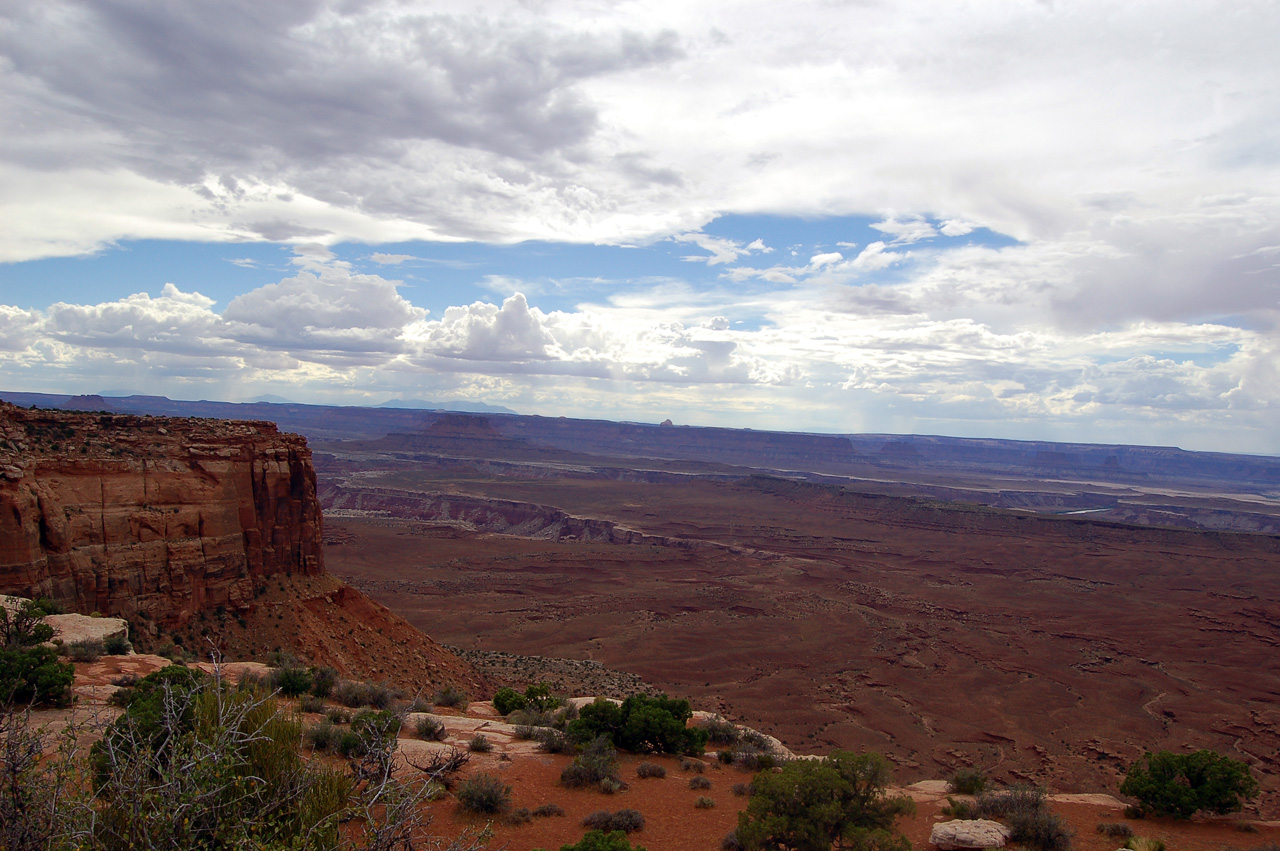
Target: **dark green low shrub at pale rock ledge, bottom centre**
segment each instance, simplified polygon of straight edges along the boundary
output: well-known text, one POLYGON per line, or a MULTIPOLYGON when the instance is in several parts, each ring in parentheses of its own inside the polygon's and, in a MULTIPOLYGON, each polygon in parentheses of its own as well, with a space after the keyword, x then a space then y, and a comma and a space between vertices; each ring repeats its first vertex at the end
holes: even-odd
POLYGON ((692 709, 687 700, 666 695, 631 695, 621 705, 605 699, 582 706, 577 720, 570 722, 570 738, 584 742, 608 736, 614 746, 634 754, 700 755, 707 731, 689 727, 692 709))

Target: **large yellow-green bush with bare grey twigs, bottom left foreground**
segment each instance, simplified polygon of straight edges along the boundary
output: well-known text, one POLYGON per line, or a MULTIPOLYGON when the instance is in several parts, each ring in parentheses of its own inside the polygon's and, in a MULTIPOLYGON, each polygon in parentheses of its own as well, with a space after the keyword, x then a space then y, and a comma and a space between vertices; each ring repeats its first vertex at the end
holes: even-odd
POLYGON ((334 847, 356 786, 300 740, 271 697, 179 667, 145 677, 91 751, 92 847, 334 847))

